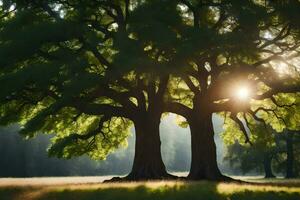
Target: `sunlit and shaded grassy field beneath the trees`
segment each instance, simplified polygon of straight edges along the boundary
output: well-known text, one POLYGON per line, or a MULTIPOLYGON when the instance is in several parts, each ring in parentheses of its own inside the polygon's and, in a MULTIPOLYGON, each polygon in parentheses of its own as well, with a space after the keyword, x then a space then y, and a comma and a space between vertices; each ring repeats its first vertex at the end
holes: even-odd
MULTIPOLYGON (((68 178, 65 178, 67 180, 68 178)), ((1 200, 300 200, 300 180, 251 180, 252 183, 161 181, 143 183, 95 183, 81 178, 76 184, 31 179, 31 184, 0 184, 1 200), (257 183, 253 183, 257 182, 257 183)), ((28 183, 30 179, 26 179, 28 183)), ((46 180, 44 178, 44 180, 46 180)), ((0 180, 3 182, 3 179, 0 180)), ((21 182, 22 183, 22 182, 21 182)))

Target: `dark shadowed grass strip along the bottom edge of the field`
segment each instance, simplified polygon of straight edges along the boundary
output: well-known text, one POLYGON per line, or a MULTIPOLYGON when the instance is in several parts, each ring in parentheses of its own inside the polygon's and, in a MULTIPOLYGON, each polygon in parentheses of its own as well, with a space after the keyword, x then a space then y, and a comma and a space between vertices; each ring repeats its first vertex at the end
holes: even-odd
MULTIPOLYGON (((235 186, 237 187, 237 186, 235 186)), ((263 186, 260 186, 263 187, 263 186)), ((286 190, 255 190, 255 189, 233 189, 231 192, 218 190, 218 183, 200 182, 200 183, 181 183, 175 185, 162 185, 159 187, 150 186, 129 186, 129 187, 102 187, 100 188, 54 188, 45 190, 34 198, 26 198, 22 194, 29 189, 19 190, 16 188, 0 189, 1 200, 14 199, 38 199, 38 200, 299 200, 300 188, 298 192, 286 190)))

